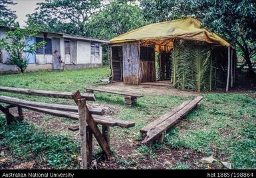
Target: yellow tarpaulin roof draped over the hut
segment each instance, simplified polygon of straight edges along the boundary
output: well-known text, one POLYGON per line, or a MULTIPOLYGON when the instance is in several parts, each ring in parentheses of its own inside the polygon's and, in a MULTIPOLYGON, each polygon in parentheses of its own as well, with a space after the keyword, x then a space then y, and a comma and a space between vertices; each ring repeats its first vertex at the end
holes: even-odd
POLYGON ((110 40, 110 43, 144 41, 155 43, 159 48, 163 48, 164 46, 170 46, 172 48, 172 41, 174 38, 177 38, 205 41, 207 43, 221 44, 222 46, 231 46, 231 44, 221 39, 221 37, 215 33, 210 33, 206 29, 200 27, 201 22, 193 18, 153 23, 120 35, 110 40))

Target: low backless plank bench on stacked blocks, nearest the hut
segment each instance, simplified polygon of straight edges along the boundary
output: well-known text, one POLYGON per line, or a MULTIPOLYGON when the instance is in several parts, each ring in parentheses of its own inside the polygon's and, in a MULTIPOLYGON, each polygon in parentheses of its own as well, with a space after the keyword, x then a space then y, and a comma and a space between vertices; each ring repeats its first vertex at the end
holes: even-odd
POLYGON ((105 93, 110 93, 110 94, 119 94, 124 96, 124 105, 125 106, 134 106, 137 102, 137 98, 143 97, 144 95, 140 94, 129 94, 129 93, 123 93, 123 92, 116 92, 116 91, 111 91, 111 90, 103 90, 103 89, 98 89, 98 88, 85 88, 86 92, 88 94, 93 94, 94 91, 96 92, 105 92, 105 93))

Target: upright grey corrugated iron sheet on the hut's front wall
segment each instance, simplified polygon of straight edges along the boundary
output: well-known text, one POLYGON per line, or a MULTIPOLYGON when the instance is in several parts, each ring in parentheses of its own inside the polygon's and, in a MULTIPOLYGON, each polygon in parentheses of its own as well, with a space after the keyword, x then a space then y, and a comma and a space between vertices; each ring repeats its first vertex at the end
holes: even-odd
POLYGON ((124 84, 138 85, 140 82, 138 43, 123 44, 124 84))

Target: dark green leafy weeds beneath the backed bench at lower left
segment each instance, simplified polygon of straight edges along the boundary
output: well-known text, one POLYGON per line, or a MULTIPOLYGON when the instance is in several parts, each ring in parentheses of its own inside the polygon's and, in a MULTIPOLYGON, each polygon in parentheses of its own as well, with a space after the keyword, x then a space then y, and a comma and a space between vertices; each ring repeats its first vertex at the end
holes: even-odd
POLYGON ((79 143, 64 135, 52 135, 35 128, 27 122, 12 123, 5 126, 0 116, 1 147, 7 146, 17 161, 42 161, 55 169, 76 167, 79 143), (37 159, 35 159, 37 157, 37 159))

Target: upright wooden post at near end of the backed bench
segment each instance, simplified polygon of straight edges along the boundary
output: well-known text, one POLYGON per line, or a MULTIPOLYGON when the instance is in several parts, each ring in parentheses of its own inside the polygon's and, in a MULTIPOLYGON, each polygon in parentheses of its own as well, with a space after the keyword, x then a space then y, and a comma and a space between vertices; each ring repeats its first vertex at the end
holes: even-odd
POLYGON ((81 157, 82 157, 82 169, 88 168, 88 159, 87 159, 87 145, 86 145, 86 100, 78 99, 78 115, 79 115, 79 130, 81 136, 81 157))

